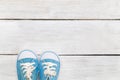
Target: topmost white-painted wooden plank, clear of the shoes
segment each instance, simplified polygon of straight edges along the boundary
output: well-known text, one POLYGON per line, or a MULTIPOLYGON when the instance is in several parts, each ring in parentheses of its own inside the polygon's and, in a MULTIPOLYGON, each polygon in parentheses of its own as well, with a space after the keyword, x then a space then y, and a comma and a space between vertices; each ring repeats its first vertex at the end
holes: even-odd
POLYGON ((119 19, 119 0, 1 0, 0 19, 119 19))

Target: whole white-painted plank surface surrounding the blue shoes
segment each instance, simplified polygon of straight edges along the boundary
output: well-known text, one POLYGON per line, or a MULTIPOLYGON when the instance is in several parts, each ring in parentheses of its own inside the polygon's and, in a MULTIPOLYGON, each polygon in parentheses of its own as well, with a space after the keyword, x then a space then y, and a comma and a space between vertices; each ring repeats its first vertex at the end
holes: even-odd
POLYGON ((58 80, 119 80, 119 19, 119 0, 0 0, 0 80, 23 49, 58 53, 58 80))

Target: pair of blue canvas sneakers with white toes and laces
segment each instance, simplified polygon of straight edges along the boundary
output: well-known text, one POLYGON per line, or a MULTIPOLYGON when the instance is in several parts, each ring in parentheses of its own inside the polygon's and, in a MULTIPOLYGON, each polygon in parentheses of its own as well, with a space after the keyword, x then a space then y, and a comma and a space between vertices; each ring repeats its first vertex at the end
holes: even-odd
POLYGON ((47 51, 38 60, 31 50, 24 50, 17 58, 18 80, 57 80, 60 71, 60 59, 54 52, 47 51))

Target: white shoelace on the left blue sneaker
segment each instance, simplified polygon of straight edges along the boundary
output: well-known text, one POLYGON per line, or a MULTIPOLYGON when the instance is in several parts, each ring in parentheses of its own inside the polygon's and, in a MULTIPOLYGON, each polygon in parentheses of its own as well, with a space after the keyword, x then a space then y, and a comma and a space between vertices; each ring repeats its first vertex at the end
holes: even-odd
POLYGON ((32 76, 32 72, 35 69, 35 67, 33 66, 35 63, 21 63, 21 67, 24 73, 24 77, 26 77, 27 80, 32 80, 31 76, 32 76))

